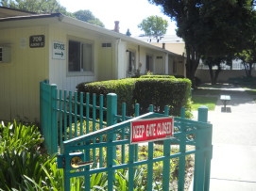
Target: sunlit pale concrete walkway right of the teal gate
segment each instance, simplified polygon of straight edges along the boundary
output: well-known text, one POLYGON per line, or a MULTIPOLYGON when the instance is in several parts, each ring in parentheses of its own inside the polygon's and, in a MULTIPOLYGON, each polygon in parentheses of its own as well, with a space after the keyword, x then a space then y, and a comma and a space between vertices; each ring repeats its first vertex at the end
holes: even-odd
POLYGON ((256 191, 256 93, 224 85, 227 111, 218 100, 208 120, 213 123, 210 191, 256 191))

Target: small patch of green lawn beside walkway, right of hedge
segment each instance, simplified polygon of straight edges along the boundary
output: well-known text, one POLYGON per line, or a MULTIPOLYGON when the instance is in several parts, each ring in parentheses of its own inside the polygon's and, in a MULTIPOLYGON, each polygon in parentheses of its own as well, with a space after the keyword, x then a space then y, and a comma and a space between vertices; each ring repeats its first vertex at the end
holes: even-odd
POLYGON ((192 97, 192 110, 197 110, 199 106, 205 105, 209 111, 213 111, 217 102, 217 97, 213 96, 193 96, 192 97))

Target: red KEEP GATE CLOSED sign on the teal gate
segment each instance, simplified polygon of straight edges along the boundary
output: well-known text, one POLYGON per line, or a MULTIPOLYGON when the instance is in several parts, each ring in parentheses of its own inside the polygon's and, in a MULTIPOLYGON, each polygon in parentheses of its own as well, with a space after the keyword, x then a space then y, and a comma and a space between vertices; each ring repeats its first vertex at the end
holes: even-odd
POLYGON ((173 136, 173 118, 140 119, 130 123, 130 143, 155 141, 173 136))

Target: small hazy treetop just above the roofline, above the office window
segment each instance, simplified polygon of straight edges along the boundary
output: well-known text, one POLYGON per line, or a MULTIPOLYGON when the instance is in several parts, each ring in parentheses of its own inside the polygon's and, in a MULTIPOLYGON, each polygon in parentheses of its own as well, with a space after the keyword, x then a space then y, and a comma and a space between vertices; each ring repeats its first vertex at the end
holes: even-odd
POLYGON ((78 10, 73 13, 74 16, 81 21, 99 25, 101 27, 105 27, 104 24, 97 18, 94 17, 93 13, 90 10, 78 10))

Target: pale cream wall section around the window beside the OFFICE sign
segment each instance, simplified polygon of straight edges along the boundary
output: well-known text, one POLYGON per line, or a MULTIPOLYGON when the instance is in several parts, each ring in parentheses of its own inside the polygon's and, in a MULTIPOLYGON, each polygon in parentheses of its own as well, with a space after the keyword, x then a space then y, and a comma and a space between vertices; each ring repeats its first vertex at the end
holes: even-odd
POLYGON ((76 27, 68 27, 62 24, 54 24, 49 27, 49 82, 57 84, 59 89, 76 91, 77 84, 81 82, 92 82, 95 80, 97 72, 97 55, 99 42, 94 40, 94 36, 88 34, 76 27), (91 40, 94 44, 94 72, 85 73, 69 73, 68 72, 68 41, 69 39, 76 40, 91 40), (64 59, 53 58, 53 43, 60 42, 65 45, 64 59))

